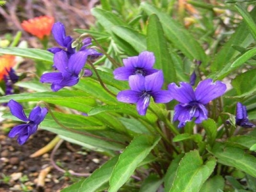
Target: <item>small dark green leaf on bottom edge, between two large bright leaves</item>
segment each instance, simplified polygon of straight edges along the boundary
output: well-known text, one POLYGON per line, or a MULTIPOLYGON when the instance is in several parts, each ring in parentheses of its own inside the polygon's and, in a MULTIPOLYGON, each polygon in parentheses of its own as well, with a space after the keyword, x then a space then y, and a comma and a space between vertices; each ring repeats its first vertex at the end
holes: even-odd
POLYGON ((139 192, 156 192, 163 183, 163 179, 159 179, 157 175, 149 175, 141 185, 139 192))

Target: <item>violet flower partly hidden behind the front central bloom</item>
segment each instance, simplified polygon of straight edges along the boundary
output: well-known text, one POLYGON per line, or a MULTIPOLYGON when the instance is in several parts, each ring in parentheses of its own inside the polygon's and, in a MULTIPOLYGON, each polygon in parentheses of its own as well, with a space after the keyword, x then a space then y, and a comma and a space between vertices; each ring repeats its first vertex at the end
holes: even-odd
POLYGON ((113 72, 115 79, 127 81, 129 76, 148 76, 157 72, 152 68, 155 63, 153 52, 143 51, 139 56, 129 57, 123 60, 124 67, 116 68, 113 72))

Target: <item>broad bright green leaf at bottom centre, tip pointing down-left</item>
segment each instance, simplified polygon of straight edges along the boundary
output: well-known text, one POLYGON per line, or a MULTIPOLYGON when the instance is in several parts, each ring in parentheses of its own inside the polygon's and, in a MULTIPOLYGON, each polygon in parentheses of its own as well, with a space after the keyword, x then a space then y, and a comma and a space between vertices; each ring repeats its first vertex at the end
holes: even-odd
POLYGON ((125 150, 120 154, 109 180, 109 192, 118 191, 131 177, 138 164, 147 157, 150 151, 156 146, 160 137, 153 138, 148 135, 141 135, 134 138, 125 150))

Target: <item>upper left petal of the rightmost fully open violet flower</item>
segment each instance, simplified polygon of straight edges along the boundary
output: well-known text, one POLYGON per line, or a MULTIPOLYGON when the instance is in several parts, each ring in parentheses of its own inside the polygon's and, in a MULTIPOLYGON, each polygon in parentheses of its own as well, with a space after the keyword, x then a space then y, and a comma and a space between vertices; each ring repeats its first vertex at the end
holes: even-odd
POLYGON ((180 86, 171 83, 168 85, 168 90, 172 97, 181 103, 188 104, 189 102, 196 100, 194 90, 188 83, 181 82, 180 86))

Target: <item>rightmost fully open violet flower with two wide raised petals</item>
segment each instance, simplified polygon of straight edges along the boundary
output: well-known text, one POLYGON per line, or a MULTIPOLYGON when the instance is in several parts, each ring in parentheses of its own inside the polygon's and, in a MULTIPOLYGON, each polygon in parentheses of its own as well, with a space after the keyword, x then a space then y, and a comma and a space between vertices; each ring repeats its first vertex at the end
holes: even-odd
POLYGON ((189 83, 182 82, 180 86, 175 83, 168 85, 171 96, 178 100, 180 104, 175 106, 173 121, 179 120, 179 128, 184 127, 186 122, 190 122, 195 117, 195 123, 200 124, 206 120, 208 111, 205 105, 212 99, 216 99, 225 93, 227 89, 221 81, 212 82, 212 79, 201 81, 195 92, 189 83))

